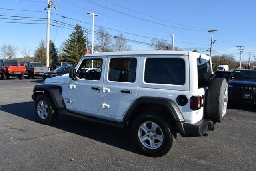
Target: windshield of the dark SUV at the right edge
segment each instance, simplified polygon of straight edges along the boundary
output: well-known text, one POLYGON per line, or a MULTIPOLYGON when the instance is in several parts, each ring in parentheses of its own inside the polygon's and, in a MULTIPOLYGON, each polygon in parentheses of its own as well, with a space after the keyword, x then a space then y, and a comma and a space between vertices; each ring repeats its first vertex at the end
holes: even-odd
POLYGON ((231 80, 252 80, 256 81, 256 71, 254 70, 238 70, 234 71, 230 76, 231 80))

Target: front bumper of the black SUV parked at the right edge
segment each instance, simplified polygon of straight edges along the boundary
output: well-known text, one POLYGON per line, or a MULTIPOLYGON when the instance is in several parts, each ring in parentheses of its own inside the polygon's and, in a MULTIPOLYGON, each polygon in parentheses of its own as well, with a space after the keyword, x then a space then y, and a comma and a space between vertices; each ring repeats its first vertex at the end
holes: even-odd
MULTIPOLYGON (((252 98, 250 99, 243 98, 243 94, 244 93, 241 93, 241 92, 229 91, 228 101, 236 102, 236 103, 256 104, 256 94, 252 94, 252 98)), ((247 94, 251 94, 251 93, 247 93, 247 94)))

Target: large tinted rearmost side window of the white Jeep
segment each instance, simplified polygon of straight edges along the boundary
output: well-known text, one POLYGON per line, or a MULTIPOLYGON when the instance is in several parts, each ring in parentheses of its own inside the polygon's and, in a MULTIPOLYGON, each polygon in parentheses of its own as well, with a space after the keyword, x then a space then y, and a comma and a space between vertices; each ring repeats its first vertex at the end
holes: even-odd
POLYGON ((145 82, 156 84, 185 84, 185 61, 181 58, 148 58, 145 82))

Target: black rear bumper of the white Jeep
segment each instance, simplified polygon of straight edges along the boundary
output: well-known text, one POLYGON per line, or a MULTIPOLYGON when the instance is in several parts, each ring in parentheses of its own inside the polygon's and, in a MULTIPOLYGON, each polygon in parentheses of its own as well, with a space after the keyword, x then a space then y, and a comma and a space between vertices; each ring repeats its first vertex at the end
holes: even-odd
POLYGON ((202 119, 197 123, 176 122, 178 132, 182 137, 200 137, 206 131, 214 128, 214 123, 210 119, 202 119))

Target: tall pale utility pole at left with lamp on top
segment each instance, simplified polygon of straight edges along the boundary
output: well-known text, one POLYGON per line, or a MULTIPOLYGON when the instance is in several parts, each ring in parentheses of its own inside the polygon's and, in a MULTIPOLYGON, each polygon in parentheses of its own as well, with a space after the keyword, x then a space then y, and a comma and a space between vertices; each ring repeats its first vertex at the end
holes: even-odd
MULTIPOLYGON (((49 66, 49 51, 50 51, 50 13, 52 8, 53 2, 48 0, 47 8, 47 32, 46 32, 46 66, 49 66)), ((45 8, 45 10, 46 10, 45 8)), ((58 4, 54 6, 55 10, 58 8, 58 4)))

